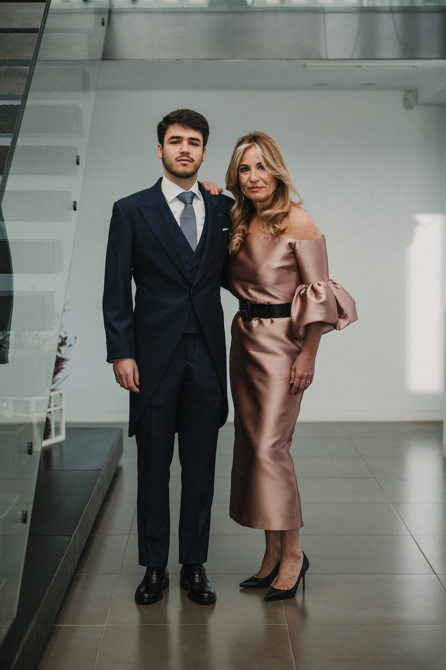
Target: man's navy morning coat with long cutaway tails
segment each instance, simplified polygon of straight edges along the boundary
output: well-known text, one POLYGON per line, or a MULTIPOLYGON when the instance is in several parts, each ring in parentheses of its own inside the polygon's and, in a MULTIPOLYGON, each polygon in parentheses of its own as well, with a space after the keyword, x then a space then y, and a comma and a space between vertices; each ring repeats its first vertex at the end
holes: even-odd
POLYGON ((130 391, 129 435, 134 435, 136 421, 162 379, 192 309, 223 389, 220 425, 228 411, 220 285, 229 288, 227 249, 233 200, 211 196, 199 185, 205 201, 205 240, 199 265, 191 273, 195 257, 188 265, 174 227, 178 224, 160 184, 158 180, 152 188, 115 202, 108 236, 102 303, 107 360, 134 358, 140 373, 140 392, 130 391))

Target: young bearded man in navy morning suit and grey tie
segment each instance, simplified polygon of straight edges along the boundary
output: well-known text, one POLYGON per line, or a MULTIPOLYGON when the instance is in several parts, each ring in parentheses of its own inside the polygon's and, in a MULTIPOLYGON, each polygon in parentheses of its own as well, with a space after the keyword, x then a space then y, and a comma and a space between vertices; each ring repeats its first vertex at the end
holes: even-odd
POLYGON ((146 574, 136 602, 169 586, 169 466, 181 462, 180 585, 215 602, 207 560, 218 430, 227 418, 221 276, 232 200, 197 182, 209 126, 179 109, 158 123, 164 176, 114 204, 104 287, 107 360, 130 391, 138 446, 138 546, 146 574), (133 307, 131 279, 136 284, 133 307))

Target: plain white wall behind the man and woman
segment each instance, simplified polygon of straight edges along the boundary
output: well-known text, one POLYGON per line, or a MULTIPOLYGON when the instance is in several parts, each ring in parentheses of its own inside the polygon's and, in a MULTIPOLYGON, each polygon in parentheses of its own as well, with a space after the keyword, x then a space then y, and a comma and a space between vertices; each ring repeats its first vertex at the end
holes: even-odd
MULTIPOLYGON (((114 200, 160 175, 156 123, 178 107, 207 117, 200 176, 221 185, 239 135, 261 129, 275 137, 326 236, 330 275, 356 299, 359 321, 323 338, 301 418, 441 418, 444 109, 407 111, 399 91, 102 90, 64 319, 78 337, 65 383, 68 419, 126 417, 127 394, 105 362, 108 224, 114 200)), ((236 307, 224 293, 229 334, 236 307)))

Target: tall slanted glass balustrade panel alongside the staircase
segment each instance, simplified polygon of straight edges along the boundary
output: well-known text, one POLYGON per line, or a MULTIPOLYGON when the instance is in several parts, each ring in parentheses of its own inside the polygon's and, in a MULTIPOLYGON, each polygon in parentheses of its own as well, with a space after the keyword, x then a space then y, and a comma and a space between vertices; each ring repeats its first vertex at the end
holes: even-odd
POLYGON ((0 642, 15 616, 45 423, 43 448, 64 438, 63 393, 49 412, 48 397, 108 16, 108 3, 68 5, 49 10, 1 202, 0 642))

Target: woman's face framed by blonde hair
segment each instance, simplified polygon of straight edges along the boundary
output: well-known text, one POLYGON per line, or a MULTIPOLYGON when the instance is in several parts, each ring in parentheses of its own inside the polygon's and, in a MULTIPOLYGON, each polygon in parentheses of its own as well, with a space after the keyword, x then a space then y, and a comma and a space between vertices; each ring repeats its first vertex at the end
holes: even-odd
POLYGON ((238 180, 243 196, 252 200, 255 208, 260 206, 265 209, 269 205, 277 187, 277 179, 263 167, 254 145, 245 149, 241 155, 238 180))

